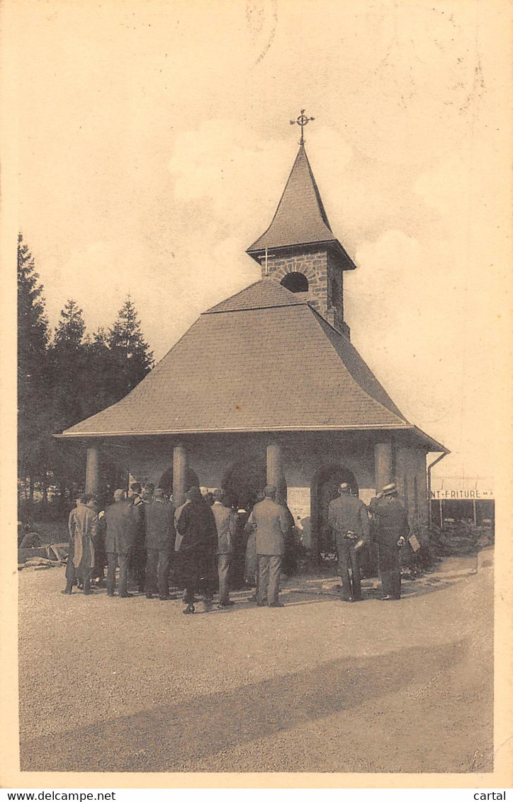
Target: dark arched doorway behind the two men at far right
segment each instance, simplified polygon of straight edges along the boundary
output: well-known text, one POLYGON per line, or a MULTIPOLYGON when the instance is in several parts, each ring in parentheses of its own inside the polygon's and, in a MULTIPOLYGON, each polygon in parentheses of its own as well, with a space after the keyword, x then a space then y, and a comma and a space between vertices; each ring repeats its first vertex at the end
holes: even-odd
POLYGON ((334 554, 336 552, 333 535, 328 526, 329 502, 338 496, 338 488, 347 482, 351 492, 357 496, 357 480, 349 468, 343 465, 323 465, 313 476, 311 489, 311 507, 313 533, 316 535, 317 554, 334 554))

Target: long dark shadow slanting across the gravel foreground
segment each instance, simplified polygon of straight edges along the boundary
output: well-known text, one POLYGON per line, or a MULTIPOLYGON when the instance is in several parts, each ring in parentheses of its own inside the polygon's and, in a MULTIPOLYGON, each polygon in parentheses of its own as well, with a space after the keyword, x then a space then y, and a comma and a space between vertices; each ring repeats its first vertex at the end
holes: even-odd
MULTIPOLYGON (((232 748, 394 694, 426 665, 433 672, 445 672, 463 664, 468 650, 467 642, 458 641, 402 649, 379 657, 333 660, 313 670, 266 679, 232 692, 152 707, 95 725, 78 724, 58 735, 21 743, 21 768, 30 772, 192 771, 194 761, 222 755, 220 770, 230 771, 227 752, 232 748)), ((172 685, 172 666, 169 683, 172 685)), ((362 771, 345 764, 344 755, 341 749, 340 766, 322 770, 362 771)), ((262 769, 251 765, 248 759, 243 770, 262 769)), ((288 766, 284 763, 272 770, 287 771, 288 766)), ((377 765, 367 770, 388 769, 377 765)), ((401 770, 418 768, 404 765, 401 770)))

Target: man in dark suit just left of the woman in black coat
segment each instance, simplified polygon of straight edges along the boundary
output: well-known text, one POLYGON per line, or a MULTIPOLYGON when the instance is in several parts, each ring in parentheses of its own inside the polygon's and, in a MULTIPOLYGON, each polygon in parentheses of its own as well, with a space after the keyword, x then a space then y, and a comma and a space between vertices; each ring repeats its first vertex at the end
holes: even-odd
POLYGON ((157 592, 164 602, 169 598, 169 569, 175 548, 175 508, 157 488, 153 499, 143 504, 146 561, 146 597, 157 592))

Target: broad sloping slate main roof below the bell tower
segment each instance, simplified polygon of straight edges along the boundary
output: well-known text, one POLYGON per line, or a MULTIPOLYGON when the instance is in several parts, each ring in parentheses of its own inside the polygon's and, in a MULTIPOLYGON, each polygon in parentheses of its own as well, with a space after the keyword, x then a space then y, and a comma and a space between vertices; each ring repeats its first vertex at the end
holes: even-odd
POLYGON ((412 429, 349 340, 263 279, 202 314, 125 398, 64 437, 412 429))

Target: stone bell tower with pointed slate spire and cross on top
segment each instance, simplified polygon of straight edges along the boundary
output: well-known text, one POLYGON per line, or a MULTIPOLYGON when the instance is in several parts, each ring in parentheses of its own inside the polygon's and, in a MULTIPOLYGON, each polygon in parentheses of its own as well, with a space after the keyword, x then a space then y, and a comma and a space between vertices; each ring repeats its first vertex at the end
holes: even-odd
POLYGON ((291 123, 301 126, 296 160, 269 229, 247 249, 262 278, 293 293, 308 293, 311 306, 349 338, 344 320, 344 271, 356 268, 333 235, 305 151, 303 129, 313 118, 304 109, 291 123))

